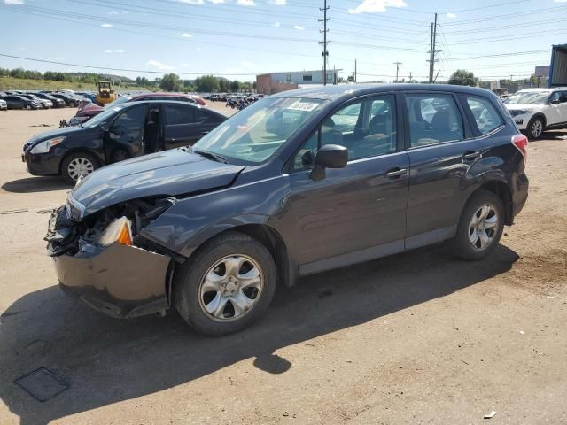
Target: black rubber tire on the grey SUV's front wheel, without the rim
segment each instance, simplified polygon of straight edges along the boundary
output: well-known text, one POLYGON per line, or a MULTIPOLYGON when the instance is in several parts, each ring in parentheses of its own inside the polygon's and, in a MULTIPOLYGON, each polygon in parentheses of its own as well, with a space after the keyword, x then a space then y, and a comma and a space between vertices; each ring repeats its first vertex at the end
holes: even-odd
MULTIPOLYGON (((238 274, 240 270, 242 267, 239 268, 238 274)), ((224 274, 228 275, 226 269, 224 274)), ((252 237, 238 232, 227 232, 205 243, 188 261, 176 268, 174 275, 174 301, 177 311, 191 328, 210 336, 232 334, 260 319, 268 310, 275 290, 276 264, 268 249, 252 237), (253 298, 252 307, 242 313, 240 318, 214 319, 212 314, 206 313, 204 301, 199 299, 201 282, 216 263, 231 256, 241 255, 260 266, 261 290, 253 298)), ((226 303, 227 308, 231 306, 229 302, 226 303)), ((234 306, 233 310, 236 315, 234 306)))

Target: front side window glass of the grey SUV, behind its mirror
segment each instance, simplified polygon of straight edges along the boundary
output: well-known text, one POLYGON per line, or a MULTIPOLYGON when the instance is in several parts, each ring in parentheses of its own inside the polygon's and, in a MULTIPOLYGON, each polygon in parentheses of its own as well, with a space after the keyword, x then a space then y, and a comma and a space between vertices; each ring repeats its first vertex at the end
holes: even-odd
POLYGON ((312 167, 317 150, 325 144, 345 146, 349 161, 395 152, 395 111, 391 95, 368 97, 340 108, 299 150, 294 158, 295 169, 312 167))

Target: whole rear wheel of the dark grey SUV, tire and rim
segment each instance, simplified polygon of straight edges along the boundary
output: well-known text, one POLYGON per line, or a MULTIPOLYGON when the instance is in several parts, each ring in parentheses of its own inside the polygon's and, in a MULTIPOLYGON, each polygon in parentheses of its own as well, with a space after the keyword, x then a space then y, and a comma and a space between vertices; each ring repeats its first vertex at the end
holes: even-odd
POLYGON ((498 245, 503 229, 504 207, 500 197, 493 192, 479 190, 462 210, 451 243, 452 251, 461 259, 484 259, 498 245))

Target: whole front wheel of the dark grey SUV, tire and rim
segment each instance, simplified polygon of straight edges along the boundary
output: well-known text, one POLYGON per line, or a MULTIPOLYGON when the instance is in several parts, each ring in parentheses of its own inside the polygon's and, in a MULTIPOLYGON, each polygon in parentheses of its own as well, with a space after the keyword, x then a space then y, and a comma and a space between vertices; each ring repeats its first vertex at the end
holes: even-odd
POLYGON ((200 333, 221 336, 257 321, 276 290, 276 265, 266 247, 229 232, 201 247, 175 271, 175 306, 200 333))

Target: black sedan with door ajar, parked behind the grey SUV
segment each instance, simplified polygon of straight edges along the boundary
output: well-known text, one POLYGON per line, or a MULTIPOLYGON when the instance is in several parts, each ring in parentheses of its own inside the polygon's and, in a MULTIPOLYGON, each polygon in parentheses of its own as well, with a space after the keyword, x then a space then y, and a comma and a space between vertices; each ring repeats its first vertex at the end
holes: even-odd
POLYGON ((36 135, 22 161, 34 175, 62 175, 67 182, 97 168, 147 153, 190 146, 226 120, 197 104, 129 102, 108 108, 81 127, 36 135))

